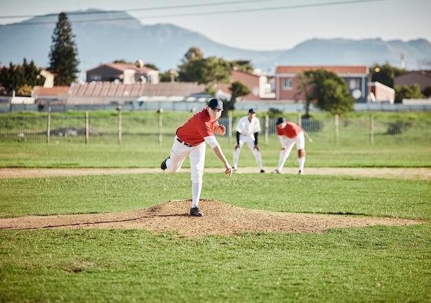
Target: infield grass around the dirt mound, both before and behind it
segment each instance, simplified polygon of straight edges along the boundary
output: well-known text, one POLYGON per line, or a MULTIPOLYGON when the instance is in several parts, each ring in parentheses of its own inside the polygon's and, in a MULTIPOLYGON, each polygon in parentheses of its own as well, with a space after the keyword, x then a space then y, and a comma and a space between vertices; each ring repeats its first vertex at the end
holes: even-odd
MULTIPOLYGON (((427 181, 302 177, 206 174, 202 198, 273 211, 431 218, 427 181)), ((5 179, 0 216, 141 209, 189 191, 189 174, 5 179)), ((430 233, 429 223, 200 238, 0 231, 0 301, 426 302, 430 233)))

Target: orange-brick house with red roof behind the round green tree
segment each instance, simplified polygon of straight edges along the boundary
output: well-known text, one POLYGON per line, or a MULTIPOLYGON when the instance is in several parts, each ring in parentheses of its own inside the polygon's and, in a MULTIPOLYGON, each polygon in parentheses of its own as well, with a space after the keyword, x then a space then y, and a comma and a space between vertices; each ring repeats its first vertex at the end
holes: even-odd
POLYGON ((306 70, 324 69, 343 78, 357 103, 366 103, 368 96, 368 67, 365 65, 299 66, 279 65, 275 68, 275 98, 277 100, 303 100, 299 90, 298 74, 306 70))

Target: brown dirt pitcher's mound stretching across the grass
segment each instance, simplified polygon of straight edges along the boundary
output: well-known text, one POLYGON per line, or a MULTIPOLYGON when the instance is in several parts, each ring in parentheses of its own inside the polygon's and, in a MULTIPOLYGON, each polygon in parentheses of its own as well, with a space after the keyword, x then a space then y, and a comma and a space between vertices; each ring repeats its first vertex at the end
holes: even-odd
POLYGON ((200 201, 205 216, 189 216, 190 200, 169 201, 149 209, 121 213, 27 216, 0 219, 0 229, 105 228, 176 231, 183 236, 233 234, 241 231, 319 232, 339 227, 408 225, 423 221, 368 216, 280 213, 233 207, 215 200, 200 201))

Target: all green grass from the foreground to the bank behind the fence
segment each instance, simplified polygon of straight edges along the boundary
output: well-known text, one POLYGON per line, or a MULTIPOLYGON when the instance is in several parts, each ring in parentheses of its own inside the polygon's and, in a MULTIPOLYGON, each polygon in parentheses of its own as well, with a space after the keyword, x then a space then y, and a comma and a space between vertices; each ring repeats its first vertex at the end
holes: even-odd
MULTIPOLYGON (((169 133, 189 116, 166 113, 172 115, 171 124, 165 125, 166 136, 159 145, 154 113, 124 113, 129 124, 118 145, 115 113, 90 114, 99 123, 94 130, 108 136, 90 136, 89 145, 82 137, 54 136, 49 145, 43 137, 39 143, 1 137, 0 167, 158 167, 169 154, 169 133), (145 135, 132 132, 142 126, 142 116, 153 119, 145 135)), ((25 115, 41 116, 0 115, 0 129, 13 126, 6 125, 6 116, 20 120, 25 115)), ((73 124, 76 113, 58 115, 63 122, 69 116, 73 124)), ((431 167, 430 114, 375 117, 375 145, 368 143, 369 114, 350 114, 336 145, 330 121, 323 132, 311 133, 315 143, 306 143, 306 167, 431 167), (394 121, 410 126, 401 134, 387 134, 394 121)), ((294 121, 295 114, 288 118, 294 121)), ((323 114, 315 118, 328 119, 323 114)), ((20 121, 23 128, 28 127, 25 123, 34 125, 28 119, 20 121)), ((43 119, 35 121, 43 131, 43 119)), ((68 122, 55 123, 59 128, 68 122)), ((268 145, 261 139, 264 166, 275 167, 280 143, 274 135, 268 145)), ((230 160, 233 143, 227 138, 220 143, 230 160)), ((184 166, 189 166, 188 160, 184 166)), ((247 147, 241 166, 255 166, 247 147)), ((295 151, 286 166, 297 167, 295 151)), ((206 167, 222 171, 209 148, 206 167)), ((0 179, 0 218, 127 211, 190 197, 189 174, 0 179)), ((202 198, 248 209, 425 222, 198 238, 137 229, 0 229, 0 302, 431 301, 429 181, 289 174, 227 178, 220 172, 204 174, 202 198)))

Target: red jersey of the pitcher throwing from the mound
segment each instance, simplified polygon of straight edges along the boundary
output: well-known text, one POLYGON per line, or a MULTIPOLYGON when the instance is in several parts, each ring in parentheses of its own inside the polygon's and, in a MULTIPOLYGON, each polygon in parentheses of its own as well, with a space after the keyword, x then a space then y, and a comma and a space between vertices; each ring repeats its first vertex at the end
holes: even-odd
POLYGON ((204 137, 213 136, 217 121, 211 121, 208 114, 208 107, 204 107, 201 112, 189 118, 176 130, 176 135, 182 142, 191 145, 198 145, 204 142, 204 137))

